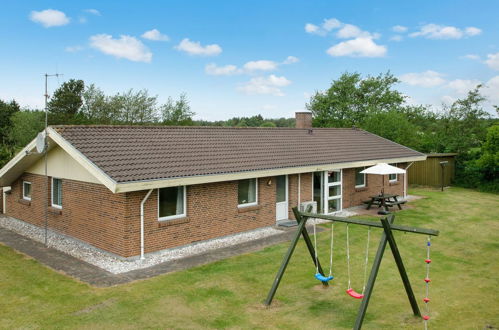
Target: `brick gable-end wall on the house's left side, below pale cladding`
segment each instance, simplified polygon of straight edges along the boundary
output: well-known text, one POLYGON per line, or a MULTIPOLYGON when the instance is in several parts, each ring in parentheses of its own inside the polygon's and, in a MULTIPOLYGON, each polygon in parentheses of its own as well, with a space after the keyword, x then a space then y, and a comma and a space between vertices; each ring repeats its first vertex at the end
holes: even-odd
MULTIPOLYGON (((50 191, 49 180, 49 191, 50 191)), ((6 214, 36 226, 45 225, 47 201, 44 176, 23 174, 12 183, 6 214), (31 182, 31 201, 22 199, 23 180, 31 182)), ((105 186, 62 180, 62 209, 49 207, 48 226, 103 250, 125 255, 125 195, 113 194, 105 186)), ((50 193, 48 196, 50 205, 50 193)))

